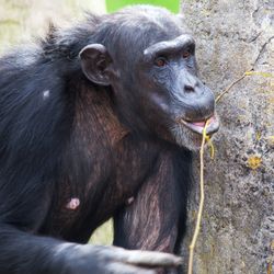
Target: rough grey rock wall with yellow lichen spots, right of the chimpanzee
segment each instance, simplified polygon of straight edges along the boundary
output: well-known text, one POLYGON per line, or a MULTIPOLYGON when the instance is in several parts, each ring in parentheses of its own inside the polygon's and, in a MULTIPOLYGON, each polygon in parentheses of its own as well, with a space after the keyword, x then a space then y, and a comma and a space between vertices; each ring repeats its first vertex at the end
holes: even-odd
MULTIPOLYGON (((183 0, 181 9, 196 37, 202 77, 216 94, 251 67, 267 72, 246 77, 217 105, 222 126, 215 160, 206 157, 194 273, 273 274, 274 1, 183 0)), ((196 217, 197 173, 184 247, 196 217)))

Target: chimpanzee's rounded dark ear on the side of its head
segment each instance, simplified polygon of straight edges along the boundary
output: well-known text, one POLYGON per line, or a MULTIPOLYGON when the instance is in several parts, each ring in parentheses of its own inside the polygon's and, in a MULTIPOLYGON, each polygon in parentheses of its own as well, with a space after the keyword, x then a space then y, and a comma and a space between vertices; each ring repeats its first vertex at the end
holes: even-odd
POLYGON ((112 60, 103 45, 90 44, 80 52, 79 56, 82 71, 90 81, 102 85, 110 84, 107 68, 112 60))

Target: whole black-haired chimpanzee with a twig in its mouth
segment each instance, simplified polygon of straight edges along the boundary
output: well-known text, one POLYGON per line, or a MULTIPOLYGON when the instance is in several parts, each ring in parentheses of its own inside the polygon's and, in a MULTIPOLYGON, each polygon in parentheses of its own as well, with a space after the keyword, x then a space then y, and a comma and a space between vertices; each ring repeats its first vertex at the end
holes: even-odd
POLYGON ((218 129, 193 37, 150 5, 49 28, 0 59, 0 273, 176 266, 191 150, 218 129), (84 244, 111 217, 121 248, 84 244))

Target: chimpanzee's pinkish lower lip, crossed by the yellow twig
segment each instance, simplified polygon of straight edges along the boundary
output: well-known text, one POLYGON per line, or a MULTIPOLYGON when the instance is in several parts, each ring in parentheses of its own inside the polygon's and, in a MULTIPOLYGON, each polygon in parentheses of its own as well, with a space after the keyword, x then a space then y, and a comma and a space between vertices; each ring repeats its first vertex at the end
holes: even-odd
MULTIPOLYGON (((214 133, 218 132, 219 129, 219 121, 218 118, 214 115, 210 118, 207 119, 208 125, 206 127, 206 134, 207 135, 213 135, 214 133)), ((191 122, 191 121, 185 121, 185 119, 180 119, 184 126, 190 128, 192 132, 197 133, 197 134, 203 134, 206 121, 197 121, 197 122, 191 122)))

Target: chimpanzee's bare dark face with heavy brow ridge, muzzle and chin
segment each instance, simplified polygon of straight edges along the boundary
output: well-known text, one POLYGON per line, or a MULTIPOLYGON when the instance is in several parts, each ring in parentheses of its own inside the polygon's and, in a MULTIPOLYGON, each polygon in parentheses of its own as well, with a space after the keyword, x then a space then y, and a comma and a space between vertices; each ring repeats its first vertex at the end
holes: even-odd
POLYGON ((197 76, 195 43, 182 34, 170 41, 150 45, 137 65, 144 116, 159 134, 167 134, 180 146, 201 146, 205 123, 207 134, 218 130, 215 99, 197 76))

